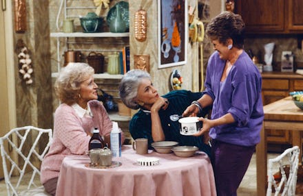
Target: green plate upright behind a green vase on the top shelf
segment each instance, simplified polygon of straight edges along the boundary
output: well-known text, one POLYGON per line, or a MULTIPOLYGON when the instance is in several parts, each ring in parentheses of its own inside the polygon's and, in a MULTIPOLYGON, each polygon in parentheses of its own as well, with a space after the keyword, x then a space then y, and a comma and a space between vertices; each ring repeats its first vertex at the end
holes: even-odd
POLYGON ((107 13, 106 22, 107 25, 116 17, 116 6, 120 6, 121 16, 123 21, 125 21, 126 29, 129 29, 129 3, 126 1, 119 1, 116 3, 107 13))

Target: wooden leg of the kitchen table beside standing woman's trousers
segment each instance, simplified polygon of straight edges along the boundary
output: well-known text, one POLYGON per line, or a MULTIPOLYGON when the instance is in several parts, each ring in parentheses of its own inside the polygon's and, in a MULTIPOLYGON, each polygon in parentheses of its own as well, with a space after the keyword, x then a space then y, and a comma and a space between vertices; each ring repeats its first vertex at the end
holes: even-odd
POLYGON ((260 132, 260 143, 256 147, 257 166, 257 195, 266 195, 267 184, 267 134, 264 129, 264 122, 260 132))

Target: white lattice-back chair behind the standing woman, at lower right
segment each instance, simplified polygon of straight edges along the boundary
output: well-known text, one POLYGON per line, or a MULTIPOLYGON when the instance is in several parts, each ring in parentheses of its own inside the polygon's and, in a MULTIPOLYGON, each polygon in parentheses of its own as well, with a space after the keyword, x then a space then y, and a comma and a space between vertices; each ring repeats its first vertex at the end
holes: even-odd
POLYGON ((276 158, 269 159, 269 173, 267 177, 268 187, 267 196, 272 194, 273 186, 275 188, 274 195, 295 195, 295 187, 297 185, 297 169, 299 164, 299 147, 291 147, 286 149, 280 156, 276 158), (273 166, 276 165, 277 169, 280 169, 281 180, 280 182, 275 182, 273 177, 273 166), (286 175, 284 166, 289 165, 289 175, 286 175))

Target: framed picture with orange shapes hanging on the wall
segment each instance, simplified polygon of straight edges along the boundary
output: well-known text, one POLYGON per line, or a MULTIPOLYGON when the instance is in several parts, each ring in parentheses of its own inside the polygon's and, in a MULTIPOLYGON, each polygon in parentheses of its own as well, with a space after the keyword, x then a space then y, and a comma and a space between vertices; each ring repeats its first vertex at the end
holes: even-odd
POLYGON ((158 68, 186 64, 187 0, 158 0, 158 68))

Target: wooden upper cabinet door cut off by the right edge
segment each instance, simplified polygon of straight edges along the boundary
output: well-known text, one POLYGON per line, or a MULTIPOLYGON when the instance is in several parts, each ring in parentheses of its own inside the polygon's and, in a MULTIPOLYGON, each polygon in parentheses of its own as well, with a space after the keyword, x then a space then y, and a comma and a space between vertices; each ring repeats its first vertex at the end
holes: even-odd
POLYGON ((303 30, 303 1, 302 0, 288 0, 288 29, 289 31, 303 30))

